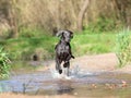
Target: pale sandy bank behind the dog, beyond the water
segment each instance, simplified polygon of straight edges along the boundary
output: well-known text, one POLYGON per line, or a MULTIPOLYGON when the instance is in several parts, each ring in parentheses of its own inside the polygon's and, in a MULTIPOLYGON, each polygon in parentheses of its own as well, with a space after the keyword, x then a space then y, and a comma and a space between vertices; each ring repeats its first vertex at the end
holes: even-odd
MULTIPOLYGON (((100 72, 100 71, 119 71, 124 73, 131 73, 131 65, 126 65, 123 68, 118 68, 118 59, 116 53, 104 53, 104 54, 94 54, 94 56, 83 56, 78 57, 71 60, 71 69, 76 65, 81 70, 88 72, 100 72)), ((51 63, 49 68, 55 69, 55 62, 51 63)), ((45 69, 39 69, 43 71, 45 69)))

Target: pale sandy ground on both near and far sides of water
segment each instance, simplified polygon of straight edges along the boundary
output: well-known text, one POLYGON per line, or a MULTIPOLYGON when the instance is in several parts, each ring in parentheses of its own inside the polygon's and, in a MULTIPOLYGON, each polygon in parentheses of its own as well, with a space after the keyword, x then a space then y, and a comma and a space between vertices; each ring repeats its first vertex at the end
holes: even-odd
MULTIPOLYGON (((131 65, 126 65, 122 69, 118 69, 118 59, 115 53, 105 53, 97 56, 83 56, 71 60, 71 68, 79 65, 80 69, 88 72, 100 72, 100 71, 117 71, 131 73, 131 65)), ((49 70, 55 66, 55 62, 46 69, 39 69, 39 71, 49 70)), ((27 96, 27 95, 15 95, 15 94, 0 94, 0 98, 75 98, 70 95, 59 96, 27 96)))

